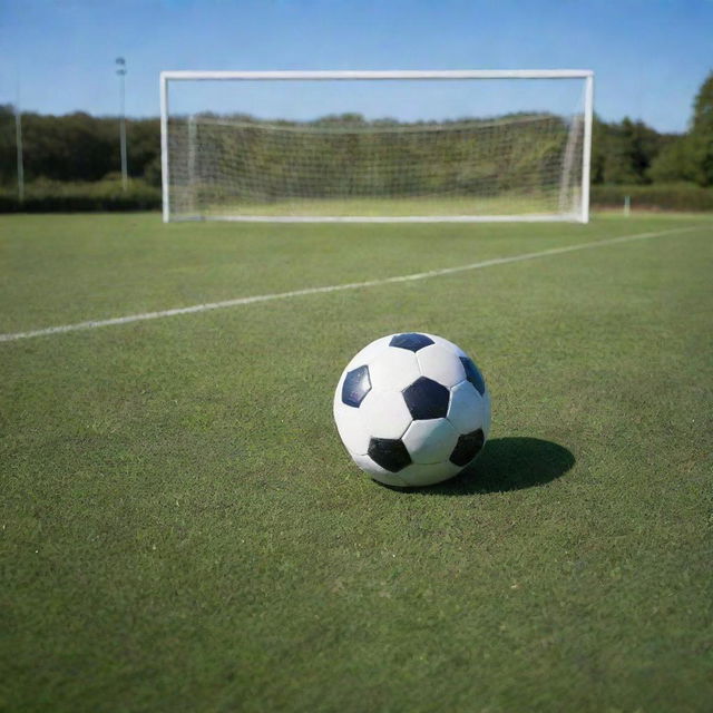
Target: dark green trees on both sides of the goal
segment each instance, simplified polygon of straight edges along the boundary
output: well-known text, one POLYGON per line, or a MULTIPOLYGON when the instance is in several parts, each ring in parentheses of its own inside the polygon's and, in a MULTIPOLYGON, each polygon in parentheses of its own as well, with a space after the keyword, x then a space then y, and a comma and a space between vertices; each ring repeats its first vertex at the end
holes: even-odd
MULTIPOLYGON (((26 182, 98 182, 120 166, 115 117, 85 113, 64 116, 22 114, 26 182)), ((157 118, 127 119, 128 170, 149 185, 160 184, 157 118)), ((13 107, 0 105, 0 185, 17 182, 13 107)), ((641 120, 604 121, 593 127, 592 182, 647 185, 690 182, 713 186, 713 72, 701 86, 684 134, 662 134, 641 120)))

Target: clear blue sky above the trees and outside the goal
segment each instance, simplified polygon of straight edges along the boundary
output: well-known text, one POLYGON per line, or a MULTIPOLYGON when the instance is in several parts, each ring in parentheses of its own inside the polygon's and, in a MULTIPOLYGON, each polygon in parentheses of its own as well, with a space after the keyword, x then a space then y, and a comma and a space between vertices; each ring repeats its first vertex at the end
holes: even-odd
POLYGON ((603 118, 681 131, 713 0, 0 0, 0 102, 19 84, 42 113, 116 114, 119 55, 134 116, 158 114, 162 69, 587 68, 603 118))

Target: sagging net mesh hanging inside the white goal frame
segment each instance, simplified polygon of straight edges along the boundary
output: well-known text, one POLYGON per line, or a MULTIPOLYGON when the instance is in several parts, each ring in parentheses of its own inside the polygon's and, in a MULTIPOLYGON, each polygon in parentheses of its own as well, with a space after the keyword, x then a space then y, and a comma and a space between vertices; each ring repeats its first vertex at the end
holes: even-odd
POLYGON ((169 117, 172 217, 574 215, 580 114, 169 117))

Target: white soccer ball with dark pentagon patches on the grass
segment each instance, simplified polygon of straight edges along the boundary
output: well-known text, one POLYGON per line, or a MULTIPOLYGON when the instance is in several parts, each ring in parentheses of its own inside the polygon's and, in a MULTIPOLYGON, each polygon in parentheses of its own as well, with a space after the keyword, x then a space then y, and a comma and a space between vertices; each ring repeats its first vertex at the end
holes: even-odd
POLYGON ((429 486, 475 460, 490 430, 490 395, 461 349, 409 332, 371 342, 336 384, 334 421, 353 461, 389 486, 429 486))

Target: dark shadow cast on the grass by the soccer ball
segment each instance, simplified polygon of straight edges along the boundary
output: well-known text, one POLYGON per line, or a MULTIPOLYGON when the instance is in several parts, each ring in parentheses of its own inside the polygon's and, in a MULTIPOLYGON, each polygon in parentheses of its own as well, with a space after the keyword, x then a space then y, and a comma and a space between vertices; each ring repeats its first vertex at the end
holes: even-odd
POLYGON ((456 478, 426 488, 421 495, 472 495, 534 488, 564 476, 575 465, 569 450, 539 438, 496 438, 456 478))

